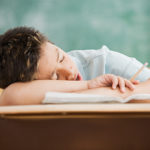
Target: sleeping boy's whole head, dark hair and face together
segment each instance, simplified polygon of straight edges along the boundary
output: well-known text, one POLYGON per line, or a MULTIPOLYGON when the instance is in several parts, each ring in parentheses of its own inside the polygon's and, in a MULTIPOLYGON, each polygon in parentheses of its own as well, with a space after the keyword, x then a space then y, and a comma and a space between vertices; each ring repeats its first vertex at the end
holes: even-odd
POLYGON ((70 57, 37 30, 17 27, 0 35, 0 88, 36 79, 74 80, 78 74, 70 57))

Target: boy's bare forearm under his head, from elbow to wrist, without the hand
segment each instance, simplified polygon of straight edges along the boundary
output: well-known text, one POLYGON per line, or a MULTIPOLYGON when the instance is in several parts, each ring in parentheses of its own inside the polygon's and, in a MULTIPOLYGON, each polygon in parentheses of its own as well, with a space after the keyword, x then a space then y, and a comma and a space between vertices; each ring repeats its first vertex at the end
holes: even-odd
POLYGON ((75 92, 88 89, 87 81, 34 80, 8 86, 0 96, 0 105, 40 104, 48 91, 75 92))

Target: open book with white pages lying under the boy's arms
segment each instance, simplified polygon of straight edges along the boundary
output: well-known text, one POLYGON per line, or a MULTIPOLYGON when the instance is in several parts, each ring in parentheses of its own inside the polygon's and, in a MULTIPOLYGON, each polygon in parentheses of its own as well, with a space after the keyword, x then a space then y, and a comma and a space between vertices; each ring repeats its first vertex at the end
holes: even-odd
POLYGON ((64 103, 126 103, 130 100, 150 100, 150 94, 135 94, 125 99, 114 96, 47 92, 42 101, 43 104, 64 104, 64 103))

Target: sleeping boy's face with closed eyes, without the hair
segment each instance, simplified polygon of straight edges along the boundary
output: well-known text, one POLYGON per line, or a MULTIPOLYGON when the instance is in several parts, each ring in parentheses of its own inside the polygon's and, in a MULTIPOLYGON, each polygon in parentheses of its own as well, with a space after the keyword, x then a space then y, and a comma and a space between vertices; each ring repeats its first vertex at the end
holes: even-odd
POLYGON ((41 46, 37 80, 82 80, 75 63, 59 47, 45 42, 41 46))

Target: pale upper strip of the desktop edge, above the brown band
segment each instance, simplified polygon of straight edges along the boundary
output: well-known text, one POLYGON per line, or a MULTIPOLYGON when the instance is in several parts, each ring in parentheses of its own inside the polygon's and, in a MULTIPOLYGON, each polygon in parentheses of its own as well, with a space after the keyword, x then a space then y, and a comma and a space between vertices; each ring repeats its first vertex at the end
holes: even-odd
POLYGON ((56 112, 150 112, 150 104, 46 104, 46 105, 20 105, 0 106, 0 114, 31 114, 56 112))

